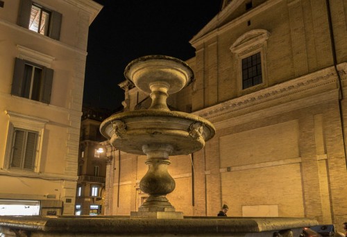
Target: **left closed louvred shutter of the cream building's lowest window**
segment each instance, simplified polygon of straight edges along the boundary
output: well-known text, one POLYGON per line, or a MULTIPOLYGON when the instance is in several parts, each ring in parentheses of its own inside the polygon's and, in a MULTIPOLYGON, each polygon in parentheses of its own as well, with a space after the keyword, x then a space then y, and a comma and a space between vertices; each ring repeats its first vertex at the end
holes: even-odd
POLYGON ((23 130, 15 130, 12 143, 10 168, 22 168, 24 142, 25 132, 23 130))

